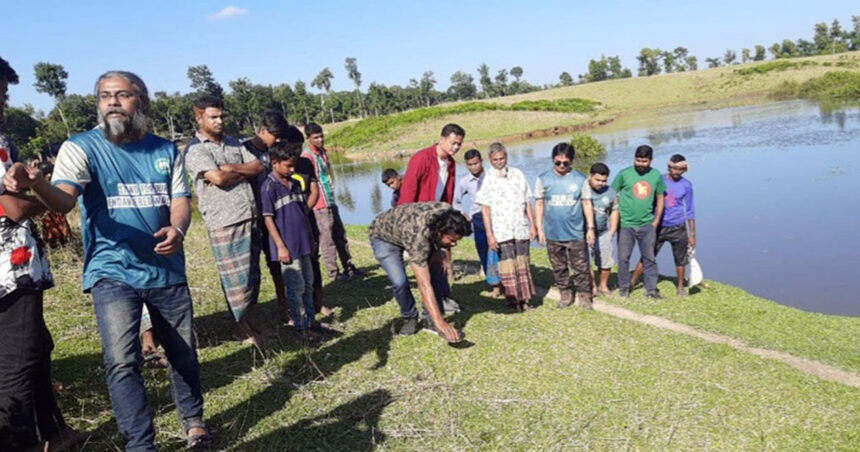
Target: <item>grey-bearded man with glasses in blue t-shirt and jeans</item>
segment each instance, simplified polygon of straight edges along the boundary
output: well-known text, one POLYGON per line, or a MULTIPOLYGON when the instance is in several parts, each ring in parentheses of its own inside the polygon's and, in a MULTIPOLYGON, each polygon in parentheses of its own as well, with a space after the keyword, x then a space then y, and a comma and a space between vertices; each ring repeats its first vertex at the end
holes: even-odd
POLYGON ((60 148, 53 180, 18 164, 6 185, 30 188, 52 210, 79 199, 83 288, 93 295, 107 385, 126 450, 155 451, 152 410, 140 372, 141 310, 170 362, 171 385, 189 448, 211 443, 203 423, 200 366, 182 242, 191 222, 182 155, 146 131, 149 96, 135 74, 110 71, 96 82, 101 127, 60 148))

